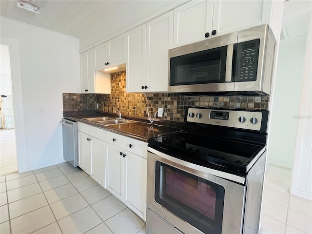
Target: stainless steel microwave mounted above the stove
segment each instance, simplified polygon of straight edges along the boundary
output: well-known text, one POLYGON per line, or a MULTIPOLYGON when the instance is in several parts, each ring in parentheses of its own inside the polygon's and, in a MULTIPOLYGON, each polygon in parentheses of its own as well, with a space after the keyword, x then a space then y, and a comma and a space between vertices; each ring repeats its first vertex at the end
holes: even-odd
POLYGON ((275 39, 267 24, 169 50, 169 93, 270 94, 275 39))

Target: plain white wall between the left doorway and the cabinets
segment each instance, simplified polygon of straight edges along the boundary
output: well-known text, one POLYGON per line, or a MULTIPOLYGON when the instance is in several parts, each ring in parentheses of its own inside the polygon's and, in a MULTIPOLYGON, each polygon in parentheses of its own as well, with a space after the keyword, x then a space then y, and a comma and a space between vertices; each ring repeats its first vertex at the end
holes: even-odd
POLYGON ((80 91, 79 40, 5 17, 0 18, 0 35, 0 43, 2 38, 18 41, 20 51, 24 118, 15 121, 17 134, 19 122, 24 121, 25 153, 18 152, 19 172, 59 163, 63 161, 62 93, 80 91))

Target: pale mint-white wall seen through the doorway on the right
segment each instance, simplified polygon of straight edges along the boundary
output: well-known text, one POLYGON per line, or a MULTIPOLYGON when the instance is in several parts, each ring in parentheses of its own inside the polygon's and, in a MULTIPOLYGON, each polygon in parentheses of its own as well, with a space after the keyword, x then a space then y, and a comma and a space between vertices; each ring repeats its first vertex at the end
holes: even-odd
POLYGON ((306 38, 281 40, 272 101, 268 162, 292 167, 306 38))

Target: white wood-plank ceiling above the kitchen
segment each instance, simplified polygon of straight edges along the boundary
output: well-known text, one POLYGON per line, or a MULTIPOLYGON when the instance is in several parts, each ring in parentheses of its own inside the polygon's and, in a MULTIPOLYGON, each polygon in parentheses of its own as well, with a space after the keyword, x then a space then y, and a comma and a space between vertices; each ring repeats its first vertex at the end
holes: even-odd
MULTIPOLYGON (((28 1, 29 0, 24 0, 28 1)), ((59 33, 80 38, 88 29, 112 24, 113 20, 131 21, 146 12, 173 8, 185 0, 30 0, 40 14, 17 6, 17 0, 0 0, 0 15, 59 33), (142 8, 144 5, 144 8, 142 8), (141 12, 140 12, 141 11, 141 12), (127 12, 123 15, 123 12, 127 12)), ((169 9, 170 10, 170 9, 169 9)), ((139 20, 139 19, 138 19, 139 20)), ((120 24, 120 23, 119 23, 120 24)))

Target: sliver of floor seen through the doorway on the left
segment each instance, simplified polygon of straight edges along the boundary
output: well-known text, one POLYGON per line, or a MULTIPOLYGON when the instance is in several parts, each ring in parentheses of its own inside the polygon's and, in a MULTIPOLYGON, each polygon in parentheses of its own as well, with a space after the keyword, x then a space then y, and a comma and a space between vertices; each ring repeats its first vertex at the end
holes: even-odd
POLYGON ((17 171, 15 130, 0 130, 0 176, 17 171))

